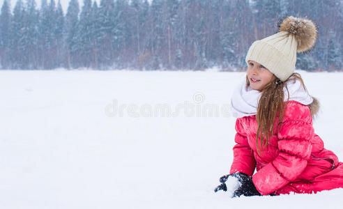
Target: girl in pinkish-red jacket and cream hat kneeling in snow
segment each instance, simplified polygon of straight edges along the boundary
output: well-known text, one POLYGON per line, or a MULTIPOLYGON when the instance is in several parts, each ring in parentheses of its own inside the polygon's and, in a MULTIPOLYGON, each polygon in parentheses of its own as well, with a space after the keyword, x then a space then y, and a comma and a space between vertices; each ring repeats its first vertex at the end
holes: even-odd
POLYGON ((343 187, 343 163, 314 133, 319 103, 294 73, 296 52, 313 47, 316 38, 312 21, 290 16, 278 33, 251 45, 246 80, 231 99, 237 118, 234 161, 215 192, 227 191, 228 178, 238 180, 234 196, 343 187))

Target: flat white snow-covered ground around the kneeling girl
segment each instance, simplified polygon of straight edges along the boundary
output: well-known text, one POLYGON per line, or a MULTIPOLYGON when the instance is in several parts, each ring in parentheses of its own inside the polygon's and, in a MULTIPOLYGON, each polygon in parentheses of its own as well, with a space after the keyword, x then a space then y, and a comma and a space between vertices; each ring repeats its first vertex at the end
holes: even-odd
MULTIPOLYGON (((300 73, 321 102, 314 130, 343 161, 343 73, 300 73)), ((242 77, 0 71, 0 208, 341 208, 343 189, 213 192, 231 165, 227 104, 242 77)))

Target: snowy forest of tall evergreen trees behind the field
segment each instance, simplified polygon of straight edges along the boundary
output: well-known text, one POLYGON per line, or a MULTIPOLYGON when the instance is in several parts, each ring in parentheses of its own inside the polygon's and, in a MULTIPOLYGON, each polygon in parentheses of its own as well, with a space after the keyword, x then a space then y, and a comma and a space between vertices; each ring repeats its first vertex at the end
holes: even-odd
POLYGON ((343 2, 335 0, 4 0, 1 69, 223 70, 245 68, 252 42, 288 15, 308 17, 316 46, 297 68, 343 69, 343 2))

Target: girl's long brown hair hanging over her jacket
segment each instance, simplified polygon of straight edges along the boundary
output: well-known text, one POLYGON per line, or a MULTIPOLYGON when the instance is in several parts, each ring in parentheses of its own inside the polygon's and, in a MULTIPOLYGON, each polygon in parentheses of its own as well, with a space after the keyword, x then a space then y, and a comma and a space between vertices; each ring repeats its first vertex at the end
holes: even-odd
MULTIPOLYGON (((261 150, 268 145, 270 137, 273 136, 275 132, 275 118, 277 120, 277 131, 282 127, 282 120, 284 117, 284 108, 286 102, 289 100, 289 91, 287 88, 287 82, 300 80, 305 91, 307 88, 301 78, 300 74, 294 72, 286 81, 282 82, 280 79, 273 75, 272 80, 264 86, 261 90, 261 98, 259 99, 259 104, 257 107, 256 120, 258 124, 257 134, 256 134, 256 145, 257 153, 259 153, 259 146, 261 150), (287 89, 288 98, 284 102, 284 87, 287 89), (260 135, 260 144, 259 144, 260 135)), ((246 84, 249 86, 249 79, 246 77, 246 84)), ((246 86, 246 87, 247 87, 246 86)))

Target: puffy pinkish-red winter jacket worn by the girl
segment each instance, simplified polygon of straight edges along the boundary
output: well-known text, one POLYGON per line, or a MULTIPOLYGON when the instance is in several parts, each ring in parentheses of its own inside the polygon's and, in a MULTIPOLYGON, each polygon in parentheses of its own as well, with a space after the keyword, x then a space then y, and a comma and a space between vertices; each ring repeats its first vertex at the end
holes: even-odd
POLYGON ((343 187, 343 163, 314 134, 309 107, 296 101, 287 102, 282 128, 277 132, 275 125, 275 134, 266 148, 259 148, 259 155, 257 127, 256 115, 237 118, 230 173, 252 176, 263 195, 316 193, 343 187))

